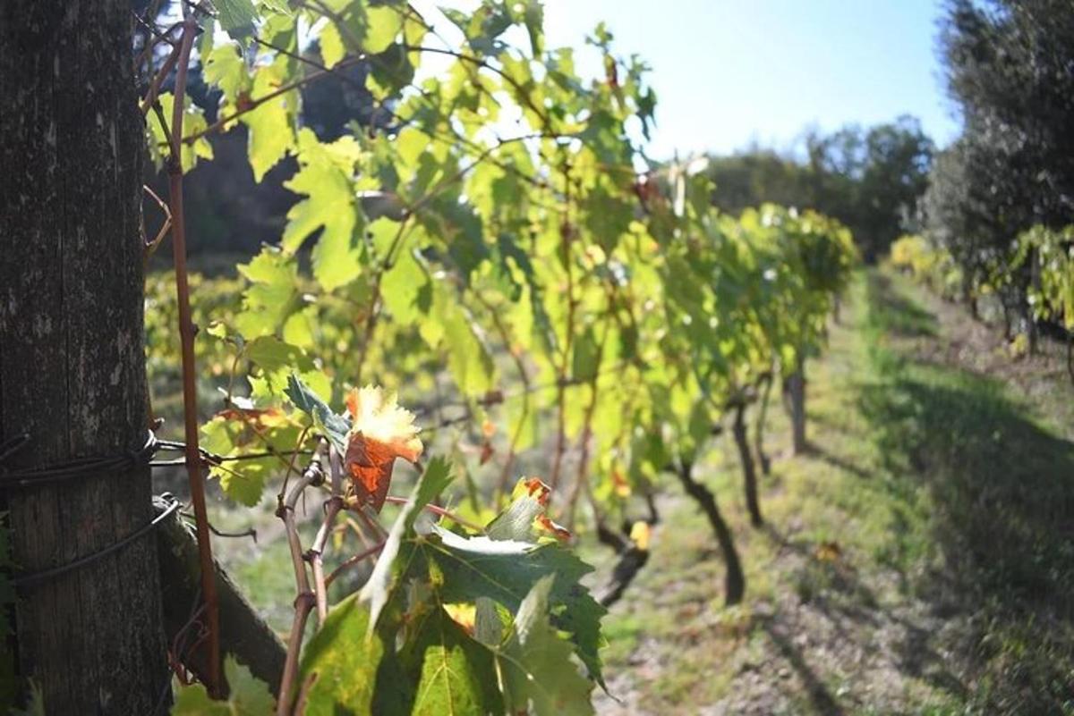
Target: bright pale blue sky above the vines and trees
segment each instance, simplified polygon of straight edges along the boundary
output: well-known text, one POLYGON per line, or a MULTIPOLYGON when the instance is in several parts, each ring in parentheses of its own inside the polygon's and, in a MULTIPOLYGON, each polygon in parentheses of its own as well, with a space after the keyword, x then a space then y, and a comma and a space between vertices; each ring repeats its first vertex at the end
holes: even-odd
MULTIPOLYGON (((436 0, 415 4, 445 29, 436 0)), ((830 131, 904 113, 946 145, 958 121, 937 60, 939 13, 937 0, 545 2, 549 46, 579 48, 604 20, 619 54, 638 53, 653 68, 654 158, 725 153, 752 141, 789 150, 809 125, 830 131)), ((589 59, 579 50, 578 69, 603 74, 589 59)))

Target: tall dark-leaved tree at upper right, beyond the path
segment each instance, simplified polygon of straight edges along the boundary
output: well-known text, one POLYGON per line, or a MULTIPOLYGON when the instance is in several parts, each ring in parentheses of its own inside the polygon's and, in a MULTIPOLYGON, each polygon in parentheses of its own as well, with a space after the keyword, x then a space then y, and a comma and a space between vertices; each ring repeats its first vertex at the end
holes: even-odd
POLYGON ((1008 335, 1069 337, 1074 223, 1074 9, 1061 0, 950 0, 939 38, 960 136, 921 202, 932 263, 977 312, 995 296, 1008 335))

